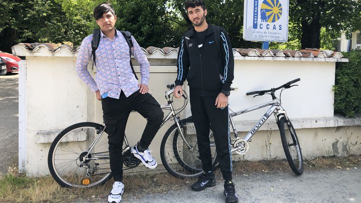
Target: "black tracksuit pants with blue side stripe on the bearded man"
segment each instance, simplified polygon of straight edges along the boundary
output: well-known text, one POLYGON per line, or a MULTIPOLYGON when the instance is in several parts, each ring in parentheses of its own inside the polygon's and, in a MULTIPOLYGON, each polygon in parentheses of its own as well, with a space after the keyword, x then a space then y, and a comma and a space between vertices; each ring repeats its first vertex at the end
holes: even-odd
POLYGON ((204 171, 211 171, 212 159, 209 146, 209 129, 213 131, 217 159, 224 180, 232 179, 232 157, 230 154, 230 135, 228 108, 217 109, 216 97, 190 96, 191 112, 197 132, 200 159, 204 171))

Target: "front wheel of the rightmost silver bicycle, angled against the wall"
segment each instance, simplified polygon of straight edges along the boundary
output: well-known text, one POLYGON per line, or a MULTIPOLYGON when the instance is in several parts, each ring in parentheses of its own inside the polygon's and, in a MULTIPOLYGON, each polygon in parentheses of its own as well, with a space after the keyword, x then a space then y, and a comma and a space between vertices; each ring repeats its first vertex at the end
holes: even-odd
POLYGON ((298 142, 295 129, 293 128, 291 121, 286 120, 286 117, 280 118, 278 126, 287 161, 293 172, 297 175, 301 175, 303 173, 303 160, 300 143, 298 142))

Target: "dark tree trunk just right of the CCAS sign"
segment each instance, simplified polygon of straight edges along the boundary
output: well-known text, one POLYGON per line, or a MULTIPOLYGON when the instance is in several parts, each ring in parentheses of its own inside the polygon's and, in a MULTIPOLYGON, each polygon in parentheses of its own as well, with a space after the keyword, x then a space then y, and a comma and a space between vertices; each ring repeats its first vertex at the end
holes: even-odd
POLYGON ((320 48, 320 14, 317 13, 310 24, 307 19, 302 19, 301 48, 320 48))

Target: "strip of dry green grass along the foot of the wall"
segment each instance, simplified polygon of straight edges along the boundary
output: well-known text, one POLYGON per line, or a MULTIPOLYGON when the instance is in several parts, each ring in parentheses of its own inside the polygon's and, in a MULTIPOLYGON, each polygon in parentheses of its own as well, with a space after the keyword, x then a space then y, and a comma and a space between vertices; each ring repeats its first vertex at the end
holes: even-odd
MULTIPOLYGON (((340 169, 361 167, 361 155, 349 157, 318 157, 313 160, 304 160, 305 171, 318 169, 340 169)), ((76 201, 103 201, 111 189, 113 181, 92 188, 63 188, 51 176, 26 177, 16 173, 13 168, 3 177, 0 177, 0 202, 76 202, 76 201)), ((286 160, 270 161, 237 161, 233 164, 233 174, 273 173, 289 171, 292 173, 286 160)), ((221 178, 220 170, 216 176, 221 178)), ((140 197, 140 193, 163 193, 190 187, 195 179, 180 179, 169 173, 137 174, 124 177, 125 193, 123 199, 140 197), (139 191, 142 192, 139 192, 139 191)))

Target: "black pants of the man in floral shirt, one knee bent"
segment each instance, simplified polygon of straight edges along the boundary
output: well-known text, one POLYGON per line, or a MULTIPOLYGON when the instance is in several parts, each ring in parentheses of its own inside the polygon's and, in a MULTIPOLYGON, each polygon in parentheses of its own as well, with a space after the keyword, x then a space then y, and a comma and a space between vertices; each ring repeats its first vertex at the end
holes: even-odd
POLYGON ((108 134, 110 169, 114 181, 123 179, 123 142, 127 121, 132 111, 137 111, 148 123, 144 129, 140 145, 148 148, 157 134, 163 121, 163 111, 156 99, 149 93, 138 91, 129 97, 124 92, 118 99, 104 98, 101 100, 103 119, 108 134))

